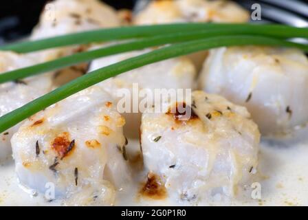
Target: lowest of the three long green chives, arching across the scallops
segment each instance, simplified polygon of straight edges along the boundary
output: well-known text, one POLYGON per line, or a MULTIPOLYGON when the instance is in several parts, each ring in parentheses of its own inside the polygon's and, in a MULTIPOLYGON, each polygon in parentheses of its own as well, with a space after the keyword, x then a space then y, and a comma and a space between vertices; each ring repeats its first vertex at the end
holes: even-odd
POLYGON ((263 36, 221 36, 213 37, 210 39, 202 39, 197 41, 188 41, 186 43, 177 43, 175 45, 170 45, 163 47, 161 49, 149 52, 147 54, 142 54, 127 60, 109 65, 107 67, 102 67, 94 72, 90 72, 84 76, 80 76, 75 80, 58 87, 54 91, 51 91, 45 96, 41 96, 28 104, 25 104, 19 109, 15 109, 10 113, 3 115, 0 118, 0 133, 8 130, 10 127, 18 124, 22 120, 34 115, 50 105, 63 100, 78 91, 91 87, 102 80, 117 76, 124 72, 128 72, 131 69, 137 67, 142 67, 151 63, 157 63, 159 61, 166 60, 168 58, 174 58, 176 56, 183 56, 186 54, 191 54, 193 52, 198 52, 201 50, 208 50, 214 47, 223 46, 233 46, 233 45, 271 45, 271 46, 283 46, 283 47, 298 47, 305 52, 308 51, 308 45, 302 45, 298 43, 291 43, 288 41, 283 41, 279 39, 272 39, 263 36))

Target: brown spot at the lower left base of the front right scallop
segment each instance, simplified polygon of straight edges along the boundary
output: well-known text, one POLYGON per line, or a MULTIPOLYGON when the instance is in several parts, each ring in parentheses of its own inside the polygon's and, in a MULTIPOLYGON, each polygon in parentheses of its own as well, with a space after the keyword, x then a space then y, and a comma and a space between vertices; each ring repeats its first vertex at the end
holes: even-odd
POLYGON ((148 173, 147 181, 140 190, 140 195, 150 199, 164 199, 167 196, 167 190, 157 175, 148 173))

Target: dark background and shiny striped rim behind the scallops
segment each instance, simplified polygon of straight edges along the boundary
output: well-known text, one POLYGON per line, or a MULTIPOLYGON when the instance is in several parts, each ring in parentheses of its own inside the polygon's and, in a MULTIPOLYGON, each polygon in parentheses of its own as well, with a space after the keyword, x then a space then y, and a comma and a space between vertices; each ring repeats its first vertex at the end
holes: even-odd
MULTIPOLYGON (((176 1, 176 0, 175 0, 176 1)), ((262 8, 261 23, 285 23, 296 27, 308 27, 307 0, 234 0, 252 11, 258 3, 262 8)), ((1 1, 0 44, 22 39, 30 34, 39 21, 39 15, 48 0, 10 0, 1 1), (25 8, 27 10, 25 10, 25 8)), ((104 0, 116 9, 142 10, 150 0, 104 0)))

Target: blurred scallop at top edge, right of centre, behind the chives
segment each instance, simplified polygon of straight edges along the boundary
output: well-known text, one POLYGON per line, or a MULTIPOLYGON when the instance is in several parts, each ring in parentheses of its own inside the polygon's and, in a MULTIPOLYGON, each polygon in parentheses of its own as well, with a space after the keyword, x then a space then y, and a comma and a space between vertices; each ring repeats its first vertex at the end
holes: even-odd
MULTIPOLYGON (((249 21, 249 13, 232 1, 206 0, 162 0, 151 1, 147 7, 133 19, 136 25, 177 22, 234 22, 249 21)), ((195 63, 197 70, 207 56, 207 52, 198 52, 188 57, 195 63)))

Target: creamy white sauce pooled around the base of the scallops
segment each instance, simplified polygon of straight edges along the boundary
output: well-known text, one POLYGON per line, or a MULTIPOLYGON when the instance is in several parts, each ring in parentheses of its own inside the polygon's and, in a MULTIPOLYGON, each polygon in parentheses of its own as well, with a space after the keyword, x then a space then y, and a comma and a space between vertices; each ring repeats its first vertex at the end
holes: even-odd
MULTIPOLYGON (((295 141, 261 142, 259 173, 261 177, 261 199, 250 197, 253 188, 248 186, 245 196, 236 199, 200 201, 190 204, 175 201, 173 198, 162 200, 138 197, 142 187, 144 171, 135 172, 131 186, 118 192, 115 206, 308 206, 308 138, 300 131, 295 141), (138 173, 139 172, 139 173, 138 173)), ((139 148, 137 140, 129 141, 130 148, 139 148)), ((43 195, 30 195, 19 186, 14 173, 14 162, 8 161, 0 166, 0 206, 60 206, 63 201, 48 202, 43 195)))

